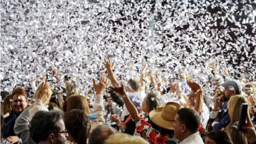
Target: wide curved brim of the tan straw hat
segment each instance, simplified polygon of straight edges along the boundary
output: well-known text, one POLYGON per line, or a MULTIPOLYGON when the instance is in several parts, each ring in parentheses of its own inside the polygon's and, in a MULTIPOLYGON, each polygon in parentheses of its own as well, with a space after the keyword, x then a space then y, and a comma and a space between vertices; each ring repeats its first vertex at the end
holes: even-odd
POLYGON ((174 127, 172 126, 174 121, 167 121, 166 119, 164 119, 161 116, 162 110, 163 108, 157 108, 150 111, 149 113, 150 120, 157 126, 163 127, 164 129, 174 130, 174 127))

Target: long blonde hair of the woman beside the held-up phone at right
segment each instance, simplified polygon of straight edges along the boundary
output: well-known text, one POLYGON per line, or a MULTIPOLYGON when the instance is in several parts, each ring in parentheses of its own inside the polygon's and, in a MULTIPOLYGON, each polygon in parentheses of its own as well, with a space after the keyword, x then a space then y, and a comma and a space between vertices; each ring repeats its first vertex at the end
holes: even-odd
MULTIPOLYGON (((228 114, 230 116, 230 124, 227 126, 233 126, 239 121, 240 110, 242 103, 247 103, 248 101, 242 95, 234 95, 228 101, 228 114)), ((247 108, 247 115, 249 115, 249 108, 247 108)))

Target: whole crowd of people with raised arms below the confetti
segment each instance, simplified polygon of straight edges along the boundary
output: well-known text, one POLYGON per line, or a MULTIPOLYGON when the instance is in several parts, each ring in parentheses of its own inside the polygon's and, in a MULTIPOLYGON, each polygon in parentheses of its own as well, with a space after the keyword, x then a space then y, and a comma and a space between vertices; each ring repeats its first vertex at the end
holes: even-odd
MULTIPOLYGON (((2 91, 1 143, 256 143, 256 85, 250 79, 232 79, 227 70, 217 76, 214 63, 204 85, 214 89, 206 93, 189 74, 162 79, 158 72, 147 75, 144 65, 140 79, 123 81, 110 58, 103 65, 107 74, 93 79, 87 95, 68 76, 66 87, 53 87, 43 76, 2 91), (249 107, 240 131, 242 103, 249 107)), ((53 67, 52 74, 62 81, 53 67)))

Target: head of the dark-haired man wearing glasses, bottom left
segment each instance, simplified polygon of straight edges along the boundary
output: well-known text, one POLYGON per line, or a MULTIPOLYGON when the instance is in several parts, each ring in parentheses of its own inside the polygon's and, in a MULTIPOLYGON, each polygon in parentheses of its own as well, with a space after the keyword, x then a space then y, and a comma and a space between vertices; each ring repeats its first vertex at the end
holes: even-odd
POLYGON ((30 137, 39 144, 65 143, 68 131, 62 111, 38 111, 30 121, 30 137))

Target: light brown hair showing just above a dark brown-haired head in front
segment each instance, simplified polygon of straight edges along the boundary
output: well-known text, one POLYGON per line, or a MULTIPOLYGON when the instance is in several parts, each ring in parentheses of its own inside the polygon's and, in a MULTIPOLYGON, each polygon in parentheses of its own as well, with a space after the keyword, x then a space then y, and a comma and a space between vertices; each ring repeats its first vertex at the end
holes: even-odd
POLYGON ((86 115, 90 114, 89 105, 86 98, 80 94, 74 94, 67 99, 67 112, 73 109, 80 109, 86 115))

